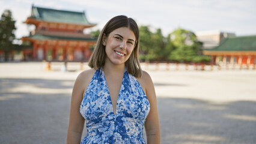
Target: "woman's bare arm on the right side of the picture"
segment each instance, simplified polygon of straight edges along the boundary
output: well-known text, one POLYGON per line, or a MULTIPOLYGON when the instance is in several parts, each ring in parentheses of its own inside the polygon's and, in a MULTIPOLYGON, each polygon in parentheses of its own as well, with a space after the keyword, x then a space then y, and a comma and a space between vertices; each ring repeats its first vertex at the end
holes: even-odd
POLYGON ((147 134, 148 144, 159 144, 160 143, 160 125, 157 112, 157 101, 156 92, 154 91, 154 85, 151 77, 148 73, 143 71, 141 77, 142 85, 145 88, 148 101, 150 102, 150 112, 148 113, 145 121, 145 131, 147 134))

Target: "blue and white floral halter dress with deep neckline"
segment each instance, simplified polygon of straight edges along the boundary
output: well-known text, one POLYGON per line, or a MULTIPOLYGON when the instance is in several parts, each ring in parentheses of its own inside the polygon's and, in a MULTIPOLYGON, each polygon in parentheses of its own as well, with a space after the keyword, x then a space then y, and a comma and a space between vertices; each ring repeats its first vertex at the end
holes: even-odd
POLYGON ((125 70, 114 115, 105 74, 99 68, 80 106, 87 124, 87 136, 81 143, 145 143, 143 128, 149 111, 150 104, 141 85, 125 70))

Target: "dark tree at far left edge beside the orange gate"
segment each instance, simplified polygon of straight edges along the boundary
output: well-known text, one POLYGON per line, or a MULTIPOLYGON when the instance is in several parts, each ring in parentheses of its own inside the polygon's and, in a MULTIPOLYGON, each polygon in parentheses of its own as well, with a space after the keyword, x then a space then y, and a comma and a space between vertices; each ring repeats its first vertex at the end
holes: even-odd
POLYGON ((11 50, 14 49, 15 22, 16 20, 13 20, 10 10, 5 10, 4 13, 2 13, 0 19, 0 50, 4 50, 5 52, 5 61, 7 61, 11 50))

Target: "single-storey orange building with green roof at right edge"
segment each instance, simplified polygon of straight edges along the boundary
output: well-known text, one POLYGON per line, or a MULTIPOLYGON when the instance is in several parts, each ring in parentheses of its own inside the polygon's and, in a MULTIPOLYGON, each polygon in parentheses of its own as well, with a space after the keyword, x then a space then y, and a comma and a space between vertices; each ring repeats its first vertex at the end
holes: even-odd
POLYGON ((203 50, 203 54, 210 55, 213 64, 246 64, 255 68, 256 35, 226 37, 219 46, 203 50))

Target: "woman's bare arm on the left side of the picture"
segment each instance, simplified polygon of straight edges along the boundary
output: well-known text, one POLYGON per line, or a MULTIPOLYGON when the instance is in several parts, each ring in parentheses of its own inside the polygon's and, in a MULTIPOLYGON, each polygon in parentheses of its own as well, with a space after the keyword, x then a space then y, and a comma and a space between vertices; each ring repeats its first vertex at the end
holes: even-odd
POLYGON ((90 83, 92 71, 84 71, 76 78, 75 85, 73 86, 71 104, 70 104, 70 116, 69 116, 69 128, 67 130, 67 144, 81 143, 82 132, 84 130, 85 119, 82 117, 79 111, 85 88, 90 83))

